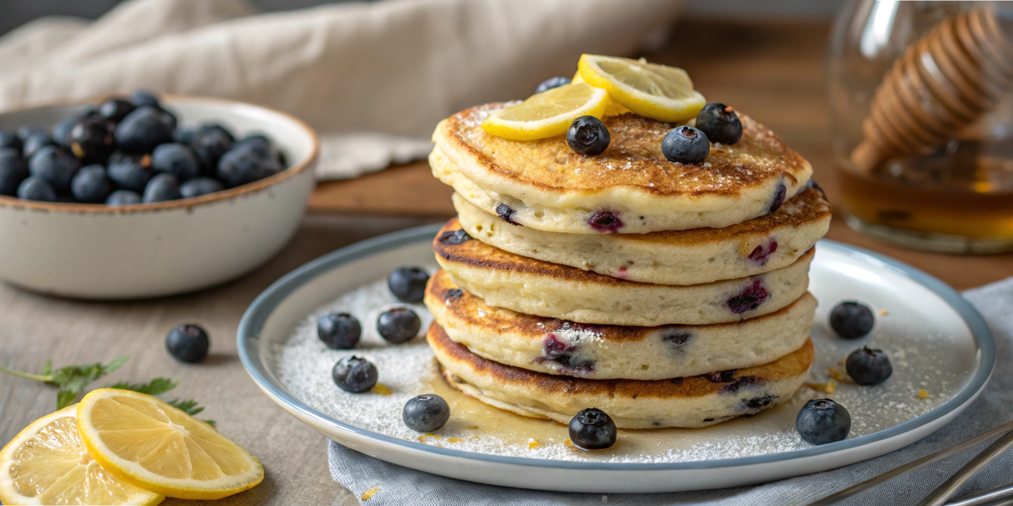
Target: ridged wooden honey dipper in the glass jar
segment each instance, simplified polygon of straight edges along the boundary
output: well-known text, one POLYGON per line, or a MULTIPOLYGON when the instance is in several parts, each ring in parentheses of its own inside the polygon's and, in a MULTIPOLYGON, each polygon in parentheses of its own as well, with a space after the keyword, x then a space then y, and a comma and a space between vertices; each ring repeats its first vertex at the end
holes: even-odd
POLYGON ((983 7, 947 17, 883 76, 851 161, 869 174, 892 156, 929 152, 995 106, 1011 85, 1013 46, 995 13, 983 7))

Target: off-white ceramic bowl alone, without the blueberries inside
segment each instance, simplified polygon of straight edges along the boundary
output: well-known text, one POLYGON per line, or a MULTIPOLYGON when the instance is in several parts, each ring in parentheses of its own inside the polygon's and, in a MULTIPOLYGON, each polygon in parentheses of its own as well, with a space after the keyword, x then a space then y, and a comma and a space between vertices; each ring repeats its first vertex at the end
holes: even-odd
MULTIPOLYGON (((192 291, 234 279, 292 239, 313 191, 319 141, 284 112, 218 98, 166 95, 183 125, 217 121, 267 135, 289 167, 235 188, 156 203, 107 206, 0 195, 0 279, 32 291, 95 300, 192 291)), ((52 128, 84 105, 0 114, 0 130, 52 128)))

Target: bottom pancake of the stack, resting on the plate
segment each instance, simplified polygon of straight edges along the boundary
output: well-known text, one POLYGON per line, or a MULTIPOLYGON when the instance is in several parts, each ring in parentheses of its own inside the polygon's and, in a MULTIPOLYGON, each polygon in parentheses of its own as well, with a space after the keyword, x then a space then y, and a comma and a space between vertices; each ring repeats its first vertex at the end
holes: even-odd
POLYGON ((434 323, 425 336, 451 387, 496 408, 569 423, 586 408, 628 429, 706 427, 791 398, 812 363, 812 341, 769 363, 675 380, 587 380, 503 365, 468 351, 434 323), (713 376, 713 380, 709 377, 713 376))

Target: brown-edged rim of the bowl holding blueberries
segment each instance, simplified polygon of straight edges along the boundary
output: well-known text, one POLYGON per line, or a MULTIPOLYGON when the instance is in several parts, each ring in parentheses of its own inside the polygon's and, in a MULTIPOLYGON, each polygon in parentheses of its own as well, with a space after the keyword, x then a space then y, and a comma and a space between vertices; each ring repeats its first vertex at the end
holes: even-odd
MULTIPOLYGON (((87 105, 94 103, 96 100, 103 100, 111 96, 119 96, 116 93, 110 93, 107 95, 102 95, 98 98, 92 98, 88 100, 81 101, 69 101, 69 102, 55 102, 48 105, 36 105, 32 107, 26 107, 23 109, 13 109, 4 111, 3 114, 22 112, 28 110, 37 109, 51 109, 56 107, 68 107, 73 105, 87 105)), ((243 106, 243 107, 254 107, 258 109, 263 109, 276 114, 280 114, 288 119, 290 119, 299 129, 302 129, 304 134, 310 138, 312 148, 310 154, 304 157, 298 163, 286 168, 285 170, 267 176, 263 179, 253 181, 251 183, 242 184, 234 188, 228 188, 221 191, 215 191, 213 193, 207 193, 204 195, 198 195, 189 198, 177 198, 175 200, 166 200, 162 202, 148 202, 148 203, 132 203, 128 205, 106 205, 104 203, 82 203, 82 202, 49 202, 43 200, 25 200, 18 198, 16 196, 0 195, 0 207, 24 207, 29 209, 47 210, 47 212, 64 212, 64 213, 101 213, 101 214, 124 214, 124 213, 134 213, 139 210, 163 210, 163 209, 177 209, 177 208, 190 208, 196 205, 207 204, 211 202, 217 202, 220 200, 228 200, 233 197, 253 193, 259 191, 263 188, 279 183, 286 179, 289 179, 306 169, 308 169, 313 162, 317 160, 320 156, 320 137, 317 135, 316 131, 313 130, 306 121, 274 107, 267 107, 265 105, 259 105, 250 102, 242 102, 239 100, 230 100, 228 98, 220 98, 213 96, 201 96, 201 95, 187 95, 180 93, 163 93, 159 95, 159 100, 164 101, 166 104, 171 105, 174 102, 210 102, 218 103, 223 105, 232 106, 243 106)))

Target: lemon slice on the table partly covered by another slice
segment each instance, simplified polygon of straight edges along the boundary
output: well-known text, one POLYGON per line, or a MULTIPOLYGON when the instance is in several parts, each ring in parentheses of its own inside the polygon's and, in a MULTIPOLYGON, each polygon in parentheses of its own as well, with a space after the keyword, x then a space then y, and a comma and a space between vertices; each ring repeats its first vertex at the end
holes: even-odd
POLYGON ((152 506, 163 499, 113 477, 91 458, 77 432, 76 404, 31 422, 0 450, 0 501, 7 506, 152 506))

